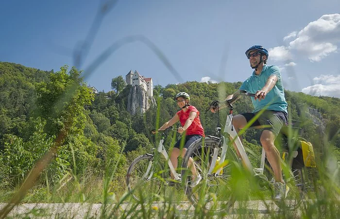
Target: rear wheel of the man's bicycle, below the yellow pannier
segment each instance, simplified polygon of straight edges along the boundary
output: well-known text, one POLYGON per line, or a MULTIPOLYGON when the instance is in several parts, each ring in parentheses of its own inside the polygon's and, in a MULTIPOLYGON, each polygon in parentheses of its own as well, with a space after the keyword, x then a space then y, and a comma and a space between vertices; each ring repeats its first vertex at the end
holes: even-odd
MULTIPOLYGON (((268 163, 268 161, 266 162, 268 163)), ((270 188, 272 189, 273 183, 275 183, 272 169, 270 168, 269 171, 267 170, 266 172, 268 180, 270 181, 270 188)), ((275 204, 283 209, 295 210, 300 206, 301 202, 304 201, 306 196, 305 168, 291 168, 288 171, 283 170, 283 179, 288 185, 289 191, 284 201, 275 201, 275 204)))

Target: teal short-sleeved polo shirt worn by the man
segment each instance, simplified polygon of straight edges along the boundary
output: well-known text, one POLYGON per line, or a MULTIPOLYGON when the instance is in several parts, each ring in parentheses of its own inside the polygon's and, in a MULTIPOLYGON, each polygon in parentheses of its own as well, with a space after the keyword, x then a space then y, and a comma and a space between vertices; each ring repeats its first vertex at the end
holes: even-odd
POLYGON ((256 93, 256 91, 260 91, 264 87, 268 77, 271 75, 275 75, 278 80, 275 86, 267 93, 263 100, 258 101, 258 99, 255 100, 255 98, 252 97, 252 102, 255 108, 253 112, 257 112, 262 109, 287 112, 288 104, 285 99, 280 69, 277 66, 264 65, 260 75, 256 75, 254 71, 253 75, 248 77, 243 82, 239 90, 246 90, 250 93, 256 93))

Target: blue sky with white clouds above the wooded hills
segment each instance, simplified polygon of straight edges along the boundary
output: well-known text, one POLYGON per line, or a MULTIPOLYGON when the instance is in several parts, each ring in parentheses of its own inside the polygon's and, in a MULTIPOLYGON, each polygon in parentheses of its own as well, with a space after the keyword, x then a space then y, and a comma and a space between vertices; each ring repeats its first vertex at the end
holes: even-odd
POLYGON ((85 74, 88 84, 110 91, 111 79, 130 70, 162 86, 244 81, 252 73, 244 52, 257 44, 269 50, 268 64, 281 69, 285 89, 340 97, 339 0, 120 0, 96 17, 107 2, 1 1, 0 61, 88 70, 117 40, 139 36, 173 68, 141 41, 120 44, 85 74), (95 18, 101 22, 91 29, 95 18), (74 54, 89 33, 88 53, 77 64, 74 54))

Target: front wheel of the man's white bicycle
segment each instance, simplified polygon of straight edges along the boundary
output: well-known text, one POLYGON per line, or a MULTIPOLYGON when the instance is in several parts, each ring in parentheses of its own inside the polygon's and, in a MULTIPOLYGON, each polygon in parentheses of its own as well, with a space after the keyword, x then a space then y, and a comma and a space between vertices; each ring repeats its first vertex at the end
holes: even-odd
MULTIPOLYGON (((221 141, 219 138, 205 137, 189 146, 182 162, 182 183, 185 186, 188 199, 196 206, 206 210, 220 212, 228 210, 235 202, 231 187, 231 171, 237 161, 234 152, 228 148, 225 162, 219 175, 215 176, 216 168, 208 173, 214 148, 218 148, 218 158, 221 158, 221 141), (191 188, 192 173, 189 160, 194 162, 196 171, 202 177, 201 182, 191 188)), ((219 164, 215 165, 218 166, 219 164)), ((219 166, 219 167, 221 167, 219 166)))

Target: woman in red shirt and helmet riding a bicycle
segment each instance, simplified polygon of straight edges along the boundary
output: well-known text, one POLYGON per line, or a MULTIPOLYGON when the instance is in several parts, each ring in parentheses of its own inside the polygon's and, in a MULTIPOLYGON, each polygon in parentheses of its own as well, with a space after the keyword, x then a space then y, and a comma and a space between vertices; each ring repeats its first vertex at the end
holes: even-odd
MULTIPOLYGON (((184 133, 184 145, 181 145, 182 139, 178 140, 170 152, 170 161, 176 169, 178 165, 178 157, 183 158, 187 152, 187 148, 196 140, 204 137, 204 129, 200 121, 200 112, 194 107, 190 106, 190 96, 186 92, 179 92, 175 96, 175 101, 178 107, 181 108, 168 122, 164 123, 158 130, 169 128, 176 122, 180 121, 182 127, 178 128, 179 133, 184 133)), ((196 186, 202 179, 201 175, 197 174, 196 167, 193 165, 193 160, 190 158, 188 167, 192 172, 191 187, 196 186)), ((171 173, 171 178, 173 175, 171 173)))

